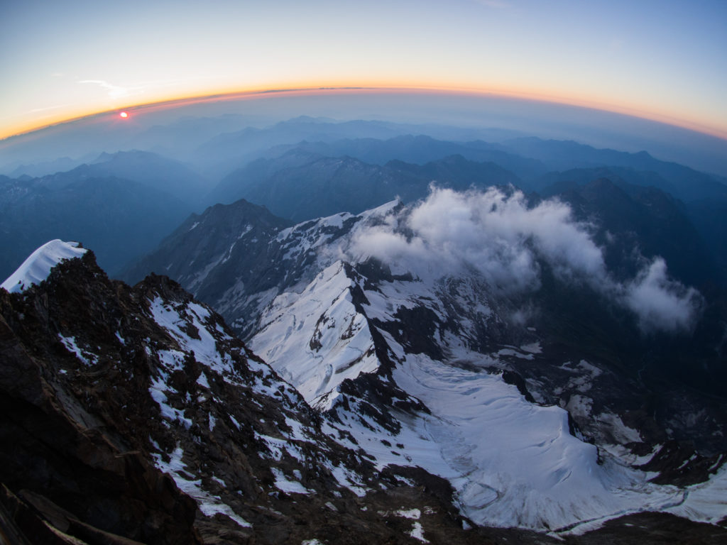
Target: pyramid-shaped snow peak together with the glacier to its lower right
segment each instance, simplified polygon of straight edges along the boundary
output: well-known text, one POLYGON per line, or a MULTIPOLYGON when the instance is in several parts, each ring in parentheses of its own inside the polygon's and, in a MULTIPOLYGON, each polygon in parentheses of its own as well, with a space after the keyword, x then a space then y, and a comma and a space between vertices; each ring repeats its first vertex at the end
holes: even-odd
MULTIPOLYGON (((329 435, 348 432, 350 439, 342 443, 363 448, 379 469, 421 467, 449 480, 462 514, 480 525, 565 530, 683 501, 678 488, 648 483, 646 472, 607 453, 599 459, 595 445, 571 435, 562 408, 529 402, 479 365, 452 363, 498 366, 497 355, 462 343, 465 331, 475 328, 471 318, 457 318, 459 336, 446 330, 444 284, 368 280, 356 267, 334 262, 300 293, 277 296, 251 341, 309 403, 328 411, 329 435), (427 354, 425 344, 400 338, 397 316, 416 310, 433 317, 419 327, 434 328, 430 336, 440 353, 427 354), (377 353, 389 355, 393 367, 382 368, 377 353), (386 383, 425 409, 382 403, 366 388, 357 395, 355 388, 343 387, 345 379, 355 384, 362 374, 369 374, 366 384, 386 383), (380 425, 382 414, 395 425, 380 425)), ((466 286, 456 287, 462 296, 466 286)), ((478 320, 493 318, 486 300, 466 294, 470 304, 477 302, 478 320)))

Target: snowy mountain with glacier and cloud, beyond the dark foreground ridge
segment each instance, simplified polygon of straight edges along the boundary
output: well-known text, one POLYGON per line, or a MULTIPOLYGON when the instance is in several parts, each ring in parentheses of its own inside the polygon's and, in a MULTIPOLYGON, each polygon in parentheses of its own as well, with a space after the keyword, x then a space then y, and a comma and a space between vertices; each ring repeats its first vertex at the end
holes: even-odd
POLYGON ((252 205, 190 219, 145 267, 204 286, 324 430, 377 469, 440 477, 488 527, 563 535, 643 512, 727 515, 723 407, 630 368, 699 320, 701 295, 663 260, 616 278, 568 206, 494 189, 434 190, 267 238, 246 238, 249 215, 218 240, 235 207, 252 205), (185 254, 193 236, 222 251, 185 254))

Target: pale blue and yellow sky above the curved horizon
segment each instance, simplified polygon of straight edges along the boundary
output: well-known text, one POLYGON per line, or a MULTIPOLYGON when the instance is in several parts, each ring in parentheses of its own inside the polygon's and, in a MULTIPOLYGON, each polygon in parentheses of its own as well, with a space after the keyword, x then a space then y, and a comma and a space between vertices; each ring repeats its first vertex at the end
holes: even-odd
POLYGON ((218 92, 517 94, 727 137, 725 0, 23 0, 0 6, 0 137, 218 92))

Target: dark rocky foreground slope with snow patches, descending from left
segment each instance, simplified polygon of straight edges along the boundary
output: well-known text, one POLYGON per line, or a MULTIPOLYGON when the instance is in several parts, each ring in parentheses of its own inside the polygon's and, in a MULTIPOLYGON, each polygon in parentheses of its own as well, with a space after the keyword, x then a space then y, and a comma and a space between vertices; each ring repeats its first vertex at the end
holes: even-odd
POLYGON ((64 544, 487 542, 417 486, 426 475, 379 473, 326 435, 340 434, 167 278, 129 288, 88 251, 0 290, 0 312, 0 528, 64 544))

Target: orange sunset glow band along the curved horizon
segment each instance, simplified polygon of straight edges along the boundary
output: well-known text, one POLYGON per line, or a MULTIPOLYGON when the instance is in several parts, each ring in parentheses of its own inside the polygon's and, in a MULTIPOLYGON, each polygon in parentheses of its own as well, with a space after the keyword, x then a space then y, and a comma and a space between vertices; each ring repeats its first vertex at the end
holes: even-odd
POLYGON ((403 86, 403 85, 390 85, 390 84, 368 84, 368 85, 356 85, 356 84, 338 84, 338 85, 323 85, 323 86, 309 86, 309 85, 290 85, 290 86, 278 86, 276 88, 268 89, 220 89, 219 92, 213 92, 209 94, 193 94, 193 95, 182 95, 176 97, 167 97, 161 100, 152 100, 150 102, 139 102, 129 104, 124 107, 123 110, 119 111, 119 108, 113 108, 112 110, 92 110, 83 111, 80 108, 76 109, 71 115, 68 115, 68 110, 65 110, 65 115, 59 114, 57 116, 47 117, 43 122, 39 121, 28 121, 24 124, 17 124, 12 127, 0 128, 0 142, 10 137, 21 136, 23 134, 29 134, 32 132, 39 131, 41 129, 47 129, 51 126, 57 126, 60 124, 71 123, 73 121, 80 121, 85 118, 94 118, 96 116, 108 115, 108 113, 118 113, 118 117, 123 119, 130 118, 132 110, 156 110, 158 108, 174 108, 175 106, 192 105, 204 102, 219 102, 225 100, 253 100, 255 98, 276 96, 276 94, 285 95, 302 95, 310 96, 314 94, 324 93, 358 93, 358 94, 405 94, 405 93, 422 93, 422 94, 466 94, 469 96, 481 96, 481 97, 502 97, 502 98, 515 98, 520 100, 532 100, 536 102, 551 102, 559 105, 576 106, 580 108, 591 108, 595 110, 604 110, 606 112, 618 113, 626 116, 632 116, 636 118, 643 118, 650 121, 657 121, 664 124, 674 125, 683 129, 689 129, 695 132, 702 132, 709 134, 713 137, 718 137, 723 140, 727 140, 727 128, 718 128, 706 123, 700 123, 695 121, 687 121, 684 118, 678 118, 673 115, 667 115, 656 111, 646 112, 638 110, 635 107, 615 105, 610 103, 597 102, 594 100, 584 100, 580 97, 571 97, 565 94, 555 95, 547 92, 537 91, 523 91, 523 89, 509 89, 499 86, 491 86, 491 88, 483 89, 472 86, 438 86, 438 85, 414 85, 403 86))

